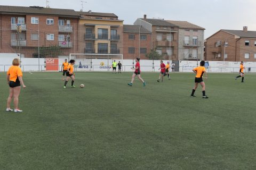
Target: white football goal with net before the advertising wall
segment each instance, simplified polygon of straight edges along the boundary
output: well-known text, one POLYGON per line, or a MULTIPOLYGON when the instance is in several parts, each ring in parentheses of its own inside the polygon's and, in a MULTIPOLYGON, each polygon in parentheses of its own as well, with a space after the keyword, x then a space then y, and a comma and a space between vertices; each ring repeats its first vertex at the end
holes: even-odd
POLYGON ((123 54, 69 54, 75 60, 75 71, 111 71, 114 60, 123 63, 123 54))

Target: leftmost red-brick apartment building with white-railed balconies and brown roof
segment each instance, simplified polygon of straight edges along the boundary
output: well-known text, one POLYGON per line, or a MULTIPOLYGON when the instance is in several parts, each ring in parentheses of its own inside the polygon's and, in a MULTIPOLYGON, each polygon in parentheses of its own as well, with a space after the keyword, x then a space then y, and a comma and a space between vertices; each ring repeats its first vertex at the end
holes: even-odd
MULTIPOLYGON (((74 10, 0 6, 0 53, 38 57, 38 46, 60 47, 59 55, 75 53, 79 16, 74 10)), ((58 57, 53 54, 41 52, 40 57, 58 57)))

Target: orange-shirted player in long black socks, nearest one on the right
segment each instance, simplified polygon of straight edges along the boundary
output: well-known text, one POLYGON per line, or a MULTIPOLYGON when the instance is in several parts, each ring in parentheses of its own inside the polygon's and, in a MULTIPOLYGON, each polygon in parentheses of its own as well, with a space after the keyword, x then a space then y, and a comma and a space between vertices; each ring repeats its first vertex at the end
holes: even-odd
POLYGON ((191 97, 196 97, 194 94, 195 94, 195 91, 196 91, 198 83, 199 83, 202 86, 203 98, 205 98, 205 99, 208 98, 205 95, 205 83, 203 81, 203 74, 204 73, 205 73, 205 76, 206 76, 205 78, 207 80, 207 73, 206 73, 206 69, 204 67, 204 64, 205 64, 205 61, 201 61, 200 66, 193 69, 193 72, 196 73, 196 78, 195 78, 195 87, 193 88, 192 93, 190 95, 191 97))

